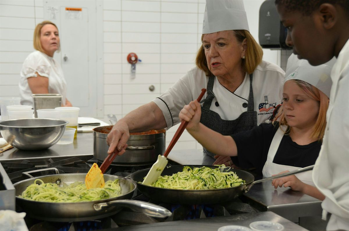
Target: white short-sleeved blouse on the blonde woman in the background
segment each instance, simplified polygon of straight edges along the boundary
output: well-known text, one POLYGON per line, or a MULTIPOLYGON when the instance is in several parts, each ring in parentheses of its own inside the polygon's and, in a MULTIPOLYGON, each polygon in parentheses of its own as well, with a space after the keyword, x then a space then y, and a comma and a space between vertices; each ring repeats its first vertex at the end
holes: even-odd
POLYGON ((28 55, 24 60, 20 82, 18 84, 20 88, 21 104, 33 106, 32 92, 30 90, 27 78, 37 77, 35 73, 40 76, 49 78, 49 93, 61 94, 62 104, 65 105, 67 95, 67 82, 64 79, 63 70, 59 63, 50 57, 49 55, 34 51, 28 55))

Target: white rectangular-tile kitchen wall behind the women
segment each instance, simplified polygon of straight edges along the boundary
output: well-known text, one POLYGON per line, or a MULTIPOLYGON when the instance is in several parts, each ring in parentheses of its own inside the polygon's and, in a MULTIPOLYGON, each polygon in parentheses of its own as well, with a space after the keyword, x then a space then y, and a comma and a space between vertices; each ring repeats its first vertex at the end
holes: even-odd
MULTIPOLYGON (((258 17, 250 0, 247 15, 258 17), (257 15, 257 16, 255 16, 257 15)), ((103 4, 104 121, 107 114, 120 119, 150 102, 195 66, 200 46, 205 0, 98 0, 103 4), (126 57, 138 54, 132 77, 126 57), (149 86, 155 90, 150 91, 149 86)), ((43 0, 0 1, 0 96, 18 95, 21 65, 32 47, 36 23, 43 20, 43 0)), ((255 20, 255 18, 253 18, 255 20)), ((254 21, 252 20, 252 23, 254 21)), ((250 28, 255 30, 254 25, 250 28)), ((258 24, 255 20, 254 24, 258 24)), ((254 31, 254 36, 256 32, 254 31)), ((168 144, 178 126, 167 132, 168 144)), ((174 149, 202 149, 186 131, 174 149)))

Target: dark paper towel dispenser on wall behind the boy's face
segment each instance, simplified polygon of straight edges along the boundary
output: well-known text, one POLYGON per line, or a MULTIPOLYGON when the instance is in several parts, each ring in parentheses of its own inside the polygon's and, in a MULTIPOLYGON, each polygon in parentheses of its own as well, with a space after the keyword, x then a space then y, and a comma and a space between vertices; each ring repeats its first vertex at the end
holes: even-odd
POLYGON ((259 9, 259 44, 263 48, 291 50, 285 43, 287 29, 280 22, 274 0, 266 0, 259 9))

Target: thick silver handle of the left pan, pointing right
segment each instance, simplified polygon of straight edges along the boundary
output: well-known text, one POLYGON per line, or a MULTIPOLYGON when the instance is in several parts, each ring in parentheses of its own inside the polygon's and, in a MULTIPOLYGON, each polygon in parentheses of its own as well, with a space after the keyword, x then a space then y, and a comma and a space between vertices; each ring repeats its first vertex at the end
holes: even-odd
POLYGON ((93 208, 96 211, 102 211, 110 206, 128 207, 151 217, 165 218, 172 215, 172 213, 164 207, 137 200, 114 200, 106 203, 97 203, 93 205, 93 208))

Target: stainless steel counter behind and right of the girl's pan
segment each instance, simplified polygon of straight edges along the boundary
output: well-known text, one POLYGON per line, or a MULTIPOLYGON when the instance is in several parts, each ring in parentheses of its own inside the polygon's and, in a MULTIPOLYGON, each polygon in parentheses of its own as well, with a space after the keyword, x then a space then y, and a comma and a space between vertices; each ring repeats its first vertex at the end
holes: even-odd
MULTIPOLYGON (((202 164, 203 152, 196 149, 173 150, 168 159, 182 165, 202 164)), ((244 198, 260 211, 273 211, 292 222, 298 217, 321 215, 321 201, 290 188, 274 189, 272 181, 253 185, 244 198)))

